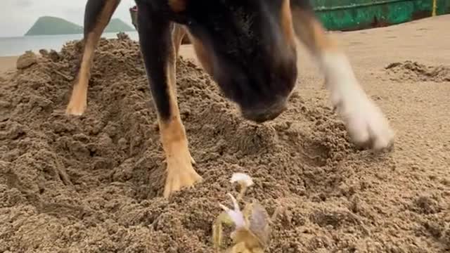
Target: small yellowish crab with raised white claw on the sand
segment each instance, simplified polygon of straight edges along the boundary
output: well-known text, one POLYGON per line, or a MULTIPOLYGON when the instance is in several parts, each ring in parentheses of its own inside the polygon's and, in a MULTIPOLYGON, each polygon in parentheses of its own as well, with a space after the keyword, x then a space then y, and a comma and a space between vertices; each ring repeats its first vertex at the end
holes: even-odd
MULTIPOLYGON (((239 197, 248 186, 252 185, 249 176, 245 174, 234 174, 231 181, 238 181, 243 188, 239 197)), ((270 217, 266 209, 259 202, 246 203, 243 210, 240 210, 238 200, 231 193, 228 193, 233 202, 233 209, 219 204, 223 212, 219 214, 212 226, 212 238, 214 249, 221 252, 222 224, 235 226, 231 233, 231 239, 234 242, 233 247, 222 251, 222 253, 262 253, 269 244, 270 235, 270 217)))

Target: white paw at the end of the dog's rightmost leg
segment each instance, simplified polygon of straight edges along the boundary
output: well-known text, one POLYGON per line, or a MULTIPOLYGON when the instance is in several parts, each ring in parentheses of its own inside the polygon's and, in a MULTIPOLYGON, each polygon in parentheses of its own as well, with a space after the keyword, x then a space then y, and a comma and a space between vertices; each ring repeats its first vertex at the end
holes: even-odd
POLYGON ((349 136, 356 145, 373 150, 392 146, 394 131, 383 112, 364 91, 335 94, 332 101, 335 112, 345 122, 349 136))

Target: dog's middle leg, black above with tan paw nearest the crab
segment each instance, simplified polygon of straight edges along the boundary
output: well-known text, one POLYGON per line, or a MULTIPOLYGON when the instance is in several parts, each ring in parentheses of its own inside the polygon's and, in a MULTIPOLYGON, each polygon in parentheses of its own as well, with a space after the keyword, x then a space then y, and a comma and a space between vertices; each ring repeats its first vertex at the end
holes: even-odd
POLYGON ((181 122, 176 100, 176 51, 180 36, 172 32, 174 24, 150 4, 138 2, 139 41, 146 66, 150 91, 158 112, 160 137, 167 162, 164 197, 184 187, 193 186, 202 178, 193 169, 186 131, 181 122), (178 39, 174 39, 178 38, 178 39))

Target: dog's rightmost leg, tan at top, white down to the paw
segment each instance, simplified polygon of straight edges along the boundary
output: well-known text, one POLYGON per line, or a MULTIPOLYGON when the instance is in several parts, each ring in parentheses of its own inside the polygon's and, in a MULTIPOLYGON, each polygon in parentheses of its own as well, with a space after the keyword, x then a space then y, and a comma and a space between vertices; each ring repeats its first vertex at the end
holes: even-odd
POLYGON ((359 84, 344 51, 326 35, 313 13, 293 10, 297 37, 307 46, 325 74, 331 103, 347 126, 357 145, 370 145, 374 150, 392 144, 394 132, 380 108, 359 84))

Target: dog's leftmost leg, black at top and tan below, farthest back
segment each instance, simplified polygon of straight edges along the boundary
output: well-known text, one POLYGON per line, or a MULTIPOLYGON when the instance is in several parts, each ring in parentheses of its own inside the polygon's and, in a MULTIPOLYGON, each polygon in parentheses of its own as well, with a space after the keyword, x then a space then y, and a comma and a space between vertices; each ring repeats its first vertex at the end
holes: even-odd
POLYGON ((120 0, 89 0, 84 16, 84 52, 66 114, 82 115, 87 105, 87 89, 91 65, 98 40, 110 22, 120 0))

